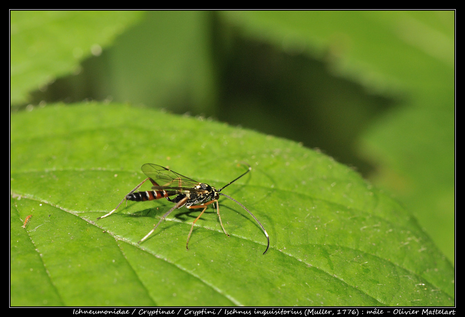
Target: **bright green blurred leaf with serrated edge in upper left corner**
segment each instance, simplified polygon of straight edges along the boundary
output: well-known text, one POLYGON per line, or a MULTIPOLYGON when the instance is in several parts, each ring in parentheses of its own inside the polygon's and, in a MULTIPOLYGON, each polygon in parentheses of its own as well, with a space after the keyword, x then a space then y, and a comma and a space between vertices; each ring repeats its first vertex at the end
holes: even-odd
POLYGON ((79 72, 79 62, 105 46, 140 16, 131 11, 11 11, 11 103, 57 77, 79 72))

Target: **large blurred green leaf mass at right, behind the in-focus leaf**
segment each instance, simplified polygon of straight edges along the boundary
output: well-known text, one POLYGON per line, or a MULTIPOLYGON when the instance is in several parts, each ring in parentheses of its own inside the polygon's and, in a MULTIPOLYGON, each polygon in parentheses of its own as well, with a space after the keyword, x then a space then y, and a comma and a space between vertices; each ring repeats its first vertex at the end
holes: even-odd
MULTIPOLYGON (((453 261, 455 12, 226 11, 220 15, 246 37, 325 60, 333 74, 397 101, 398 106, 370 122, 360 139, 352 142, 359 144, 361 157, 376 165, 372 182, 395 193, 453 261)), ((340 125, 350 122, 343 111, 333 113, 327 121, 341 117, 340 125)))

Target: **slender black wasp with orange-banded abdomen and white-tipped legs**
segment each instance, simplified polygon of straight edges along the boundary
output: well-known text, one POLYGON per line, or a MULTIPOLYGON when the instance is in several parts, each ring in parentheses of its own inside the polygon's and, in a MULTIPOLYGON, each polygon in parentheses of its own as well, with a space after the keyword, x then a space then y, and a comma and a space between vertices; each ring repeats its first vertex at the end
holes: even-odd
POLYGON ((120 205, 123 203, 124 200, 126 200, 126 204, 127 204, 127 200, 146 201, 146 200, 166 198, 168 199, 168 201, 171 201, 172 203, 174 203, 175 205, 171 207, 171 209, 167 211, 161 217, 160 221, 158 221, 158 223, 154 225, 154 228, 150 230, 150 232, 147 233, 147 235, 145 235, 145 237, 143 237, 138 242, 138 243, 142 243, 145 240, 147 240, 147 238, 150 237, 152 233, 154 233, 155 229, 160 225, 162 220, 168 217, 168 215, 175 209, 181 208, 183 206, 189 209, 202 209, 202 212, 200 213, 200 215, 192 223, 192 227, 190 228, 189 235, 187 236, 186 249, 189 249, 188 244, 189 244, 190 235, 192 234, 192 230, 194 229, 194 224, 197 222, 197 220, 199 220, 203 212, 207 209, 207 206, 210 204, 214 204, 213 207, 215 208, 215 203, 216 203, 219 223, 221 225, 221 228, 223 229, 223 232, 229 237, 229 234, 224 229, 223 222, 221 221, 221 216, 219 215, 218 198, 221 195, 221 196, 225 196, 226 198, 233 200, 236 204, 244 208, 253 217, 253 219, 255 219, 255 221, 262 228, 263 233, 265 234, 266 240, 267 240, 266 250, 265 252, 263 252, 263 254, 265 254, 266 251, 268 251, 268 248, 270 247, 270 238, 265 228, 260 223, 260 221, 253 215, 252 212, 250 212, 244 205, 242 205, 240 202, 235 200, 233 197, 220 193, 224 188, 231 185, 234 181, 237 181, 238 179, 246 175, 252 169, 250 166, 248 166, 248 169, 246 172, 244 172, 242 175, 240 175, 233 181, 227 183, 220 189, 216 189, 215 187, 212 187, 205 183, 194 181, 186 176, 176 173, 163 166, 159 166, 155 164, 144 164, 142 165, 141 169, 142 169, 142 172, 147 176, 147 178, 141 181, 139 185, 137 185, 132 191, 130 191, 126 196, 124 196, 123 200, 121 200, 121 202, 118 204, 118 206, 116 206, 115 209, 113 209, 112 211, 110 211, 104 216, 98 217, 97 220, 111 215, 113 212, 115 212, 118 209, 118 207, 120 207, 120 205), (142 184, 145 183, 146 181, 152 182, 152 184, 154 185, 152 187, 152 190, 145 191, 145 192, 136 192, 136 190, 140 186, 142 186, 142 184), (174 196, 174 197, 170 198, 171 196, 174 196))

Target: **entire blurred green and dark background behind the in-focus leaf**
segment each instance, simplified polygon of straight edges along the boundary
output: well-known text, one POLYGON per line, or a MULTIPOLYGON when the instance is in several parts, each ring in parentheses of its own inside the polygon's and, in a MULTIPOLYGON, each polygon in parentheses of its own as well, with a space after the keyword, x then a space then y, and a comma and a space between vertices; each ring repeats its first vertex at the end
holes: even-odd
POLYGON ((454 26, 454 11, 12 11, 11 111, 129 102, 293 139, 396 197, 454 262, 454 26))

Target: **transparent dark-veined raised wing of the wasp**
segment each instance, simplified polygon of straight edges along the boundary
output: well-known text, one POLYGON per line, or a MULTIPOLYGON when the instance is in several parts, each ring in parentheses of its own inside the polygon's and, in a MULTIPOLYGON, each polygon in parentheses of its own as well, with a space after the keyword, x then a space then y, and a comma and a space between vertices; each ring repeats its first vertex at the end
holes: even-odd
POLYGON ((172 190, 192 190, 192 187, 199 184, 198 181, 156 164, 144 164, 141 169, 147 177, 150 177, 159 186, 159 188, 154 186, 154 189, 167 189, 166 187, 170 187, 172 190))

